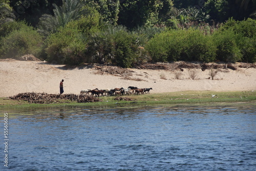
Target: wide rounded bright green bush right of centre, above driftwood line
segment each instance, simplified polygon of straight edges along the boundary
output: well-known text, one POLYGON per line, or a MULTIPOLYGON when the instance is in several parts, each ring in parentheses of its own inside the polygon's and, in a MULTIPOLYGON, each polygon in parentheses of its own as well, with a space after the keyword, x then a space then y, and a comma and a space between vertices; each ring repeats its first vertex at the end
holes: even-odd
POLYGON ((214 61, 216 47, 199 30, 170 30, 152 38, 146 49, 153 61, 214 61))

